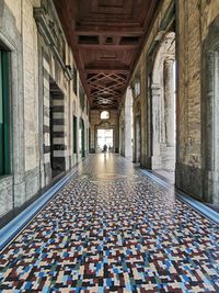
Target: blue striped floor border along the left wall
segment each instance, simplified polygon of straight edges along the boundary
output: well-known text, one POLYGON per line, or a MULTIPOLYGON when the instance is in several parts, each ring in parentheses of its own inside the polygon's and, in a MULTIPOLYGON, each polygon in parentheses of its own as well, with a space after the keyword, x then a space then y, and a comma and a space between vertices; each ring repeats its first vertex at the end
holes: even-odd
POLYGON ((41 198, 33 202, 21 214, 14 217, 3 228, 0 229, 0 251, 14 238, 14 236, 45 206, 45 204, 56 194, 78 170, 79 165, 74 167, 70 173, 65 176, 41 198))

